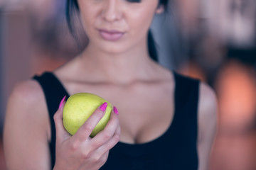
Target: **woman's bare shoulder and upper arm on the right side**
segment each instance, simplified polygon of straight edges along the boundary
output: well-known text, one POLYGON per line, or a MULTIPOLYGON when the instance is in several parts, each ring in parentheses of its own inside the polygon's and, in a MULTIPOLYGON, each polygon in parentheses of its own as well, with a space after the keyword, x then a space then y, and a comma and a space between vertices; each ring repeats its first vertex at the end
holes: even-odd
POLYGON ((198 103, 198 157, 199 170, 208 169, 211 149, 217 127, 217 98, 207 84, 200 84, 198 103))

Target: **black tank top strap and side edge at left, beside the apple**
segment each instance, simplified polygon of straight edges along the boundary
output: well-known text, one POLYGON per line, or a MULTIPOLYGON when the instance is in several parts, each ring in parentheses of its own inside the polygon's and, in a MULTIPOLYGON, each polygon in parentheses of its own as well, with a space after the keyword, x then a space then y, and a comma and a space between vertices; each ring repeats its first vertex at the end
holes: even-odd
POLYGON ((55 141, 56 141, 56 132, 55 132, 55 123, 53 120, 53 115, 58 110, 59 103, 64 96, 69 97, 68 92, 63 87, 63 84, 55 77, 51 72, 44 72, 41 76, 34 76, 33 79, 38 81, 41 85, 43 92, 46 97, 46 104, 48 108, 48 114, 50 118, 51 126, 51 140, 50 140, 50 154, 51 154, 51 163, 52 168, 55 164, 55 141))

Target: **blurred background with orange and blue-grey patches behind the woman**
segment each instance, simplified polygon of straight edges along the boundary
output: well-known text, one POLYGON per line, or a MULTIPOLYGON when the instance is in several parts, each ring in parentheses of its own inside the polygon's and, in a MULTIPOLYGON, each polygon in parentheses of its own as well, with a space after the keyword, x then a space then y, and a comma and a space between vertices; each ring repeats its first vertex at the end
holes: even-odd
MULTIPOLYGON (((256 1, 171 0, 151 30, 160 64, 201 79, 218 96, 209 170, 255 170, 256 1)), ((6 169, 2 130, 14 85, 79 52, 65 23, 65 1, 0 0, 0 169, 6 169)))

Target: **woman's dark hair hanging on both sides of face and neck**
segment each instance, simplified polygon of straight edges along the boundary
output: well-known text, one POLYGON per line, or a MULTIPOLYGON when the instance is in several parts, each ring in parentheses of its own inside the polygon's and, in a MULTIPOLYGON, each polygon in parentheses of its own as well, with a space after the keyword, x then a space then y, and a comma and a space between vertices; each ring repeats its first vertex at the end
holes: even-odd
MULTIPOLYGON (((164 6, 165 12, 168 11, 168 4, 169 4, 169 0, 159 0, 159 6, 164 6)), ((80 46, 80 42, 78 40, 80 36, 78 35, 78 33, 75 31, 75 28, 74 28, 75 22, 77 21, 74 19, 74 16, 79 16, 78 12, 79 12, 78 1, 77 0, 67 0, 66 20, 68 23, 68 28, 70 30, 70 33, 73 35, 75 40, 78 42, 78 46, 80 46)), ((151 30, 149 30, 149 33, 148 33, 147 44, 148 44, 149 56, 151 57, 152 60, 158 62, 156 45, 155 45, 151 30)))

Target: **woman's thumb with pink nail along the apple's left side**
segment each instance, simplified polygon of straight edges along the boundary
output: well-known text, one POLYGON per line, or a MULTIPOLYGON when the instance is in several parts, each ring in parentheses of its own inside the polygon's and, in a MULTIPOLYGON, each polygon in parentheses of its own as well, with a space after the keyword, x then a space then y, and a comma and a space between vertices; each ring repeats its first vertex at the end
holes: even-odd
POLYGON ((65 106, 65 98, 66 96, 60 101, 58 111, 53 115, 56 129, 56 142, 61 142, 62 140, 65 140, 65 137, 70 137, 63 126, 63 107, 65 106))

